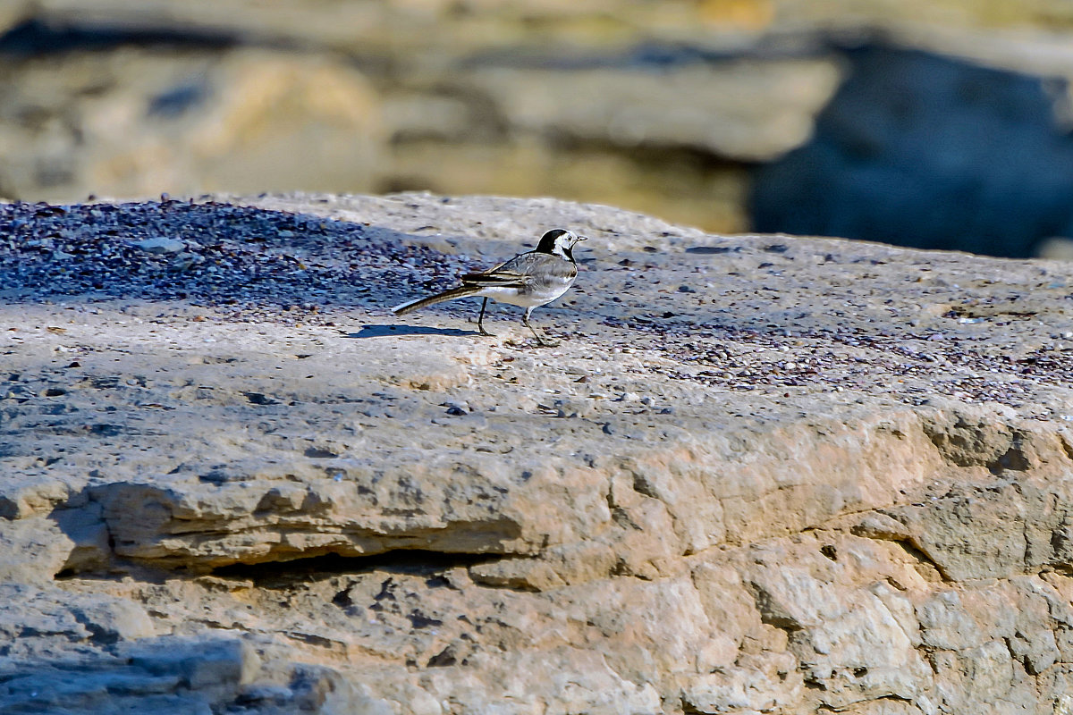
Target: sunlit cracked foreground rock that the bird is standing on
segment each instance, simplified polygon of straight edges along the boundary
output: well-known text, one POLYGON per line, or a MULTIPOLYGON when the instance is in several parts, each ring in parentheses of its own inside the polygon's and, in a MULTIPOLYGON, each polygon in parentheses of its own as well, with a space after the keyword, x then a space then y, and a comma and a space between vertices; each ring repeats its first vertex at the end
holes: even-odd
POLYGON ((232 200, 0 213, 0 710, 1073 709, 1069 264, 232 200))

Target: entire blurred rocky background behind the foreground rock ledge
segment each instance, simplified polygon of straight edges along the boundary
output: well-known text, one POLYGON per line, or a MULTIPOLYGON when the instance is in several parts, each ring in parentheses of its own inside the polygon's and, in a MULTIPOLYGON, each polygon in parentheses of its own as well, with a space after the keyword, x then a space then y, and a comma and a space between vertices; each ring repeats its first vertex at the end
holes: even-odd
POLYGON ((553 195, 1056 255, 1071 28, 1068 0, 8 0, 0 196, 553 195))

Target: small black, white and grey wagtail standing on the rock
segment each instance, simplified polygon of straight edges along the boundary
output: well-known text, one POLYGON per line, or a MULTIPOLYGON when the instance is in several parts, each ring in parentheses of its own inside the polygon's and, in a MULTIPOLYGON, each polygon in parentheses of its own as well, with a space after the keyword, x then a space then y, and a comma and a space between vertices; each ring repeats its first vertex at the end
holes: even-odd
POLYGON ((488 298, 501 303, 520 306, 526 309, 521 322, 532 330, 536 342, 547 345, 540 333, 529 325, 529 315, 534 308, 549 303, 570 289, 577 278, 577 262, 573 248, 578 241, 588 240, 562 228, 554 228, 540 239, 534 251, 516 255, 506 263, 499 264, 480 273, 466 273, 461 285, 427 298, 418 298, 392 309, 396 315, 406 315, 418 308, 435 306, 444 300, 476 296, 484 298, 481 316, 476 321, 482 336, 491 333, 484 329, 484 309, 488 298))

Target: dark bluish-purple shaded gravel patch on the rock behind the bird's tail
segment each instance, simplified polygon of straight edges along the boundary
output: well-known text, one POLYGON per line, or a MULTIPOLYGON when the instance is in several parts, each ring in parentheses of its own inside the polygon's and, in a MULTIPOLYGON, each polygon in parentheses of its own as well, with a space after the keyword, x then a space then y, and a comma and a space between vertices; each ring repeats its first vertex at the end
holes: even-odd
POLYGON ((405 245, 406 238, 214 202, 0 204, 0 301, 386 308, 465 270, 454 256, 405 245))

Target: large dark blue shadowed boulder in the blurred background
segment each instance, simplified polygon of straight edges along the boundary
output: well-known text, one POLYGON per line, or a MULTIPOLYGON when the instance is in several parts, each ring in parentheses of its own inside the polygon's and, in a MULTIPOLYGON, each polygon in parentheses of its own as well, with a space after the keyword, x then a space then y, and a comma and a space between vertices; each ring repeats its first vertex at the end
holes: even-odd
POLYGON ((1073 235, 1073 136, 1049 80, 867 45, 805 146, 760 167, 753 228, 1021 257, 1073 235))

